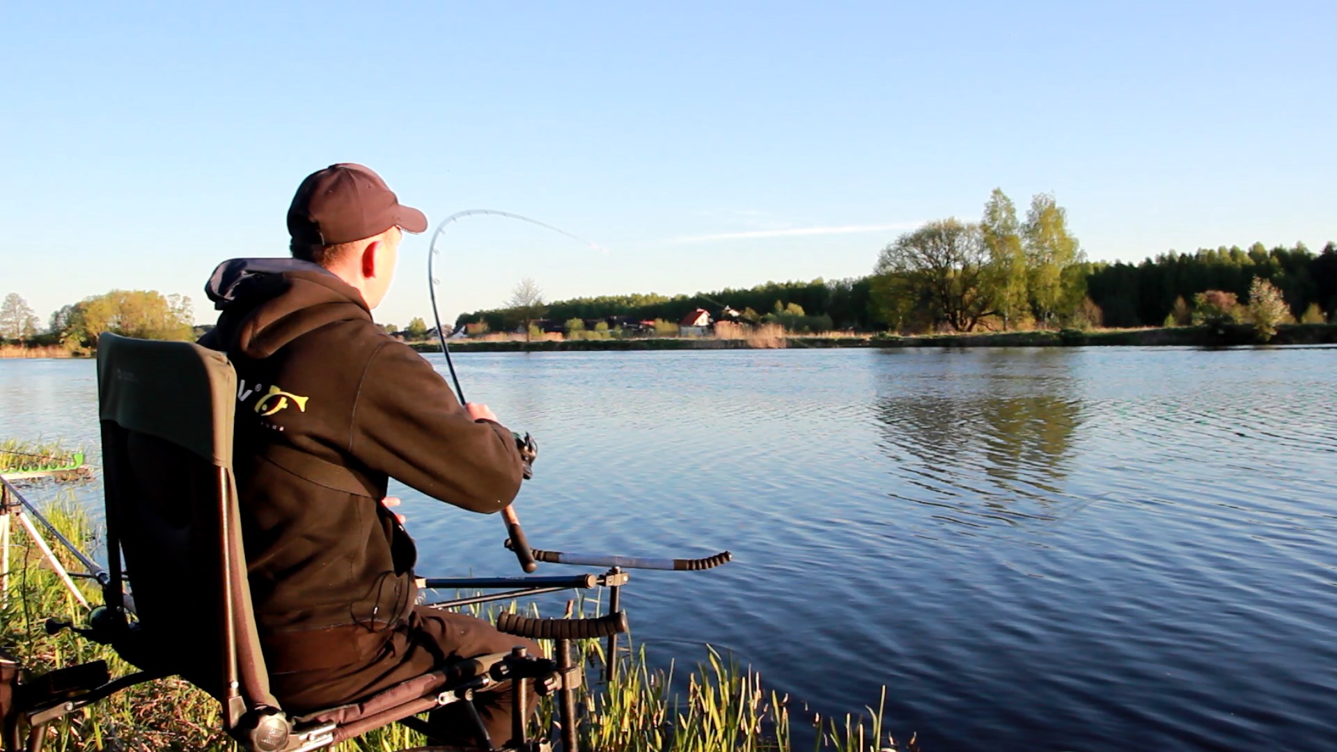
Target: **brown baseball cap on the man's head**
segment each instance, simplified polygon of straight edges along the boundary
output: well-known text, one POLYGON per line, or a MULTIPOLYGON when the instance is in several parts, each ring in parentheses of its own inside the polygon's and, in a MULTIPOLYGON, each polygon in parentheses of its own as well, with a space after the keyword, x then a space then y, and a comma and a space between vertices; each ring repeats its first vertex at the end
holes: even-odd
POLYGON ((380 175, 352 162, 306 175, 287 207, 287 233, 299 244, 352 242, 394 225, 408 233, 421 233, 427 230, 427 217, 400 205, 380 175))

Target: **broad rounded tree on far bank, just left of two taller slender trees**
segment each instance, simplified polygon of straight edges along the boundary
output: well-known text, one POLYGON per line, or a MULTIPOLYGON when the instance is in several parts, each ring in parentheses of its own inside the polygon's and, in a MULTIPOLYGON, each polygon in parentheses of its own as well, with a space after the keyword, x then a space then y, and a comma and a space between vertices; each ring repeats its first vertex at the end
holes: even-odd
MULTIPOLYGON (((937 219, 882 249, 874 274, 886 284, 874 286, 874 296, 894 292, 923 298, 935 320, 969 332, 993 314, 984 284, 987 265, 988 252, 979 225, 937 219)), ((881 310, 904 310, 904 302, 885 298, 876 302, 881 310)))

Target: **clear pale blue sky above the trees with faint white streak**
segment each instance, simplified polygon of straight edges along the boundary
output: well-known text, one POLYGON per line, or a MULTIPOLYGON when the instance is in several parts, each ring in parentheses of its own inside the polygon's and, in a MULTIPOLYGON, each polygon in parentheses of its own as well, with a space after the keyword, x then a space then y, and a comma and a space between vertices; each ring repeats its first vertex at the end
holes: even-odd
MULTIPOLYGON (((0 7, 0 294, 185 293, 282 256, 303 175, 443 233, 443 313, 866 273, 1052 191, 1095 260, 1337 240, 1337 3, 0 7)), ((428 316, 428 236, 381 321, 428 316)))

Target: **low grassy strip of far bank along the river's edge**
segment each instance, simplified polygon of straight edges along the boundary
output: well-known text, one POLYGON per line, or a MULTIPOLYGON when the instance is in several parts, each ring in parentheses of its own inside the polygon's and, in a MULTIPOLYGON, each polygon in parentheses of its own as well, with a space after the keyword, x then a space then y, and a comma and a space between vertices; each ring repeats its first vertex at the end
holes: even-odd
MULTIPOLYGON (((1263 344, 1253 326, 1234 324, 1221 328, 1170 326, 1155 329, 1062 329, 1031 332, 979 332, 965 335, 828 335, 786 336, 778 343, 750 339, 658 337, 623 340, 475 341, 456 340, 457 352, 588 352, 652 349, 771 349, 771 348, 940 348, 940 347, 1237 347, 1263 344)), ((1270 345, 1337 344, 1337 324, 1284 324, 1270 345)), ((439 352, 432 343, 413 343, 418 352, 439 352)))

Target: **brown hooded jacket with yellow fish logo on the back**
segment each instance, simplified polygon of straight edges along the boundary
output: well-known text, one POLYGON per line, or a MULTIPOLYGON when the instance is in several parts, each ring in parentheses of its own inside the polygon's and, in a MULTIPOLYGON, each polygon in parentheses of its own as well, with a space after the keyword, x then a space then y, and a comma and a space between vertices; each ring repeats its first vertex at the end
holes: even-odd
POLYGON ((251 599, 270 672, 374 652, 416 599, 413 541, 389 478, 471 511, 520 488, 512 434, 472 420, 441 376, 318 265, 226 261, 201 344, 238 376, 234 466, 251 599))

